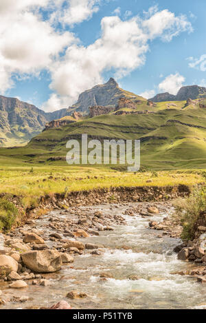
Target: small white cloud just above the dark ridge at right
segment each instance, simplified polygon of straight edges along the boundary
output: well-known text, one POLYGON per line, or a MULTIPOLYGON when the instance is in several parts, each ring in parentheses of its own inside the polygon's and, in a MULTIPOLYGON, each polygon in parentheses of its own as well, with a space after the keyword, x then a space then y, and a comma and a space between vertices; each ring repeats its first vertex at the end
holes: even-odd
POLYGON ((181 74, 170 74, 161 83, 159 83, 159 90, 161 92, 169 92, 170 94, 176 95, 184 82, 185 78, 181 74))

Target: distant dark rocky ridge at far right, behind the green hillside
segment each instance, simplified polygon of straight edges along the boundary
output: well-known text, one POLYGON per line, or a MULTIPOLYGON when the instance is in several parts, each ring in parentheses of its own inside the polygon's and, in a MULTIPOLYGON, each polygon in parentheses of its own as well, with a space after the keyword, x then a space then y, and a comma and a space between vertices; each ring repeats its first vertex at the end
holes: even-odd
POLYGON ((150 98, 152 102, 164 102, 164 101, 185 101, 188 98, 196 100, 197 98, 206 97, 206 87, 200 87, 198 85, 183 86, 176 95, 168 92, 157 94, 154 98, 150 98))

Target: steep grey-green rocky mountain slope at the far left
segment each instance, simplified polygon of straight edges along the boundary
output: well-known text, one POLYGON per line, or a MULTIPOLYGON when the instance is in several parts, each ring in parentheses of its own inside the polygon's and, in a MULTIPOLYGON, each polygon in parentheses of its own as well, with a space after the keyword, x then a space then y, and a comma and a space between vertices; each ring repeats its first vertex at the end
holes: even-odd
POLYGON ((67 109, 46 113, 17 98, 0 96, 0 147, 27 143, 45 123, 68 114, 67 109))

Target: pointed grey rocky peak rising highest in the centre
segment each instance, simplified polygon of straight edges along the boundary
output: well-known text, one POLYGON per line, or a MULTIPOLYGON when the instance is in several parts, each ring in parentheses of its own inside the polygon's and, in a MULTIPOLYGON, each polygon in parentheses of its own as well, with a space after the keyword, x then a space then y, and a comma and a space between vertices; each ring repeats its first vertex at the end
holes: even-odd
POLYGON ((114 79, 110 79, 106 84, 96 85, 91 90, 87 90, 80 94, 78 102, 69 107, 69 112, 76 110, 84 115, 89 114, 89 107, 113 105, 115 107, 119 102, 119 98, 129 98, 132 100, 146 101, 146 99, 136 94, 126 92, 120 89, 114 79))

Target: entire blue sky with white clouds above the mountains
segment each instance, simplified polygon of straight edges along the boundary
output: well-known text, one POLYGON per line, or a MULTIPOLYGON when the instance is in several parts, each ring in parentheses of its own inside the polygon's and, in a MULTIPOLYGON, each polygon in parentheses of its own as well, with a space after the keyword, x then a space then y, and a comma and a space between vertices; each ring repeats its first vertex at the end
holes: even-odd
POLYGON ((148 97, 206 86, 205 0, 21 2, 0 4, 1 94, 53 111, 111 76, 148 97))

